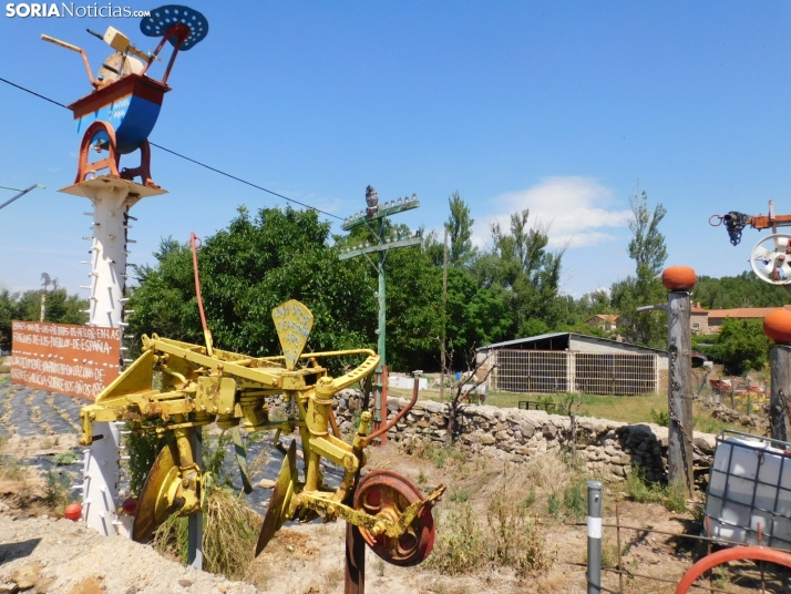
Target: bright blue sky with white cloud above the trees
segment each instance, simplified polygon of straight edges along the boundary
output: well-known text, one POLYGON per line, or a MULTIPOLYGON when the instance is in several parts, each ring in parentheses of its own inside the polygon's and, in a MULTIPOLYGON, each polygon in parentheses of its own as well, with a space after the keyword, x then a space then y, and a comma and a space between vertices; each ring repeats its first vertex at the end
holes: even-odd
MULTIPOLYGON (((372 184, 383 201, 417 193, 399 221, 439 229, 459 191, 485 247, 491 223, 530 208, 552 245, 571 242, 563 290, 582 296, 634 269, 635 188, 668 209, 667 264, 711 276, 747 269, 761 237, 732 247, 711 214, 770 198, 791 213, 791 2, 189 6, 209 33, 179 54, 151 140, 341 218, 372 184)), ((111 50, 84 30, 107 25, 156 45, 137 19, 0 13, 0 76, 70 103, 91 90, 80 58, 39 35, 83 47, 96 70, 111 50)), ((0 185, 47 186, 0 211, 0 286, 37 288, 45 272, 75 293, 91 208, 58 193, 76 167, 72 115, 2 83, 0 107, 0 185)), ((168 194, 132 209, 133 263, 161 237, 212 235, 238 205, 285 205, 156 148, 152 171, 168 194)))

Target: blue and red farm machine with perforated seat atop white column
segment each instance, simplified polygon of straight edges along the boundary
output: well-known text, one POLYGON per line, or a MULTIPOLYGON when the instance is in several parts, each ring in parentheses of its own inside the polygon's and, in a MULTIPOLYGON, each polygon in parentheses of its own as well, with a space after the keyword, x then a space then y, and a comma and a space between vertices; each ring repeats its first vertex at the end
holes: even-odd
POLYGON ((198 11, 188 7, 170 4, 154 9, 141 22, 141 31, 146 37, 162 38, 156 50, 143 52, 132 45, 126 35, 117 29, 107 28, 104 35, 88 30, 89 33, 105 41, 115 53, 110 55, 96 76, 93 75, 85 51, 51 38, 41 39, 75 51, 82 55, 88 78, 93 91, 69 105, 76 120, 76 130, 82 133, 80 158, 75 184, 95 177, 99 172, 134 181, 158 188, 151 177, 151 146, 148 135, 154 129, 162 109, 162 101, 171 88, 167 78, 171 74, 176 55, 199 43, 208 33, 208 21, 198 11), (147 75, 154 61, 160 60, 160 52, 165 42, 173 45, 173 53, 162 80, 147 75), (97 153, 106 151, 103 158, 91 162, 90 150, 97 153), (121 155, 140 148, 141 163, 134 168, 119 171, 121 155))

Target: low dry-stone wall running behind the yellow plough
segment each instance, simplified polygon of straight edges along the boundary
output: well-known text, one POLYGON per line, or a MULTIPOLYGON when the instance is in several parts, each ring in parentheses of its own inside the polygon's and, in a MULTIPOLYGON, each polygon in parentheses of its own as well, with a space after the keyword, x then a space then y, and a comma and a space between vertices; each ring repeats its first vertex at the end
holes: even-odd
MULTIPOLYGON (((337 399, 336 416, 342 431, 350 431, 360 409, 360 393, 343 390, 337 399)), ((388 400, 388 419, 409 402, 388 400)), ((405 445, 420 441, 446 442, 450 404, 431 400, 418 401, 393 427, 388 438, 405 445)), ((666 427, 653 423, 630 424, 581 417, 577 419, 577 455, 588 472, 609 480, 622 480, 631 468, 640 468, 650 481, 667 480, 666 427)), ((568 417, 541 410, 501 409, 490 406, 462 404, 459 414, 459 445, 470 452, 521 463, 533 454, 571 448, 568 417)), ((694 458, 696 482, 708 480, 715 436, 695 433, 694 458)))

